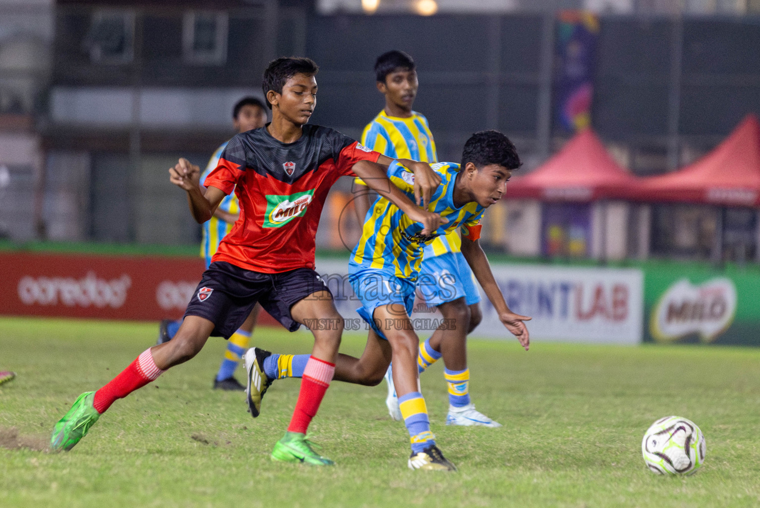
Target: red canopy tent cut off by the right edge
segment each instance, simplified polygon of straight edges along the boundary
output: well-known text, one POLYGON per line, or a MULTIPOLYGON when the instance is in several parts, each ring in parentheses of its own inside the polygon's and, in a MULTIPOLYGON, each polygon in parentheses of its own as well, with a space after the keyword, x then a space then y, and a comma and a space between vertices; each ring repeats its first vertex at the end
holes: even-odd
POLYGON ((760 205, 760 122, 748 115, 709 154, 682 170, 642 179, 638 198, 724 206, 760 205))

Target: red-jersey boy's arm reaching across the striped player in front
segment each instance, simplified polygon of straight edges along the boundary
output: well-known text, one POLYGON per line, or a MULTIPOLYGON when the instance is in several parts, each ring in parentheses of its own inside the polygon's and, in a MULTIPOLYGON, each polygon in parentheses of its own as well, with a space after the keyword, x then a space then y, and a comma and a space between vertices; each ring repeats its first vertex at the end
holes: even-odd
MULTIPOLYGON (((383 157, 385 156, 381 156, 381 158, 383 157)), ((393 162, 393 159, 388 157, 385 157, 385 159, 390 161, 388 164, 393 162)), ((359 162, 353 165, 352 170, 353 173, 356 173, 356 176, 364 180, 364 183, 370 189, 388 198, 388 201, 396 205, 404 214, 407 214, 411 220, 423 224, 423 236, 432 234, 441 224, 448 223, 448 219, 441 217, 439 214, 416 206, 401 189, 394 186, 386 173, 388 166, 370 162, 369 160, 359 160, 359 162)))

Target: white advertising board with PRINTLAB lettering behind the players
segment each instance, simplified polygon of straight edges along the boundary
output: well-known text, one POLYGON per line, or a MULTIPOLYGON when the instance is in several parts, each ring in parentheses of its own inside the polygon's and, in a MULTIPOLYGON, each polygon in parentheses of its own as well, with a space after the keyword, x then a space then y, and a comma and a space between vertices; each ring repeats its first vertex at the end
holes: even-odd
MULTIPOLYGON (((638 344, 643 314, 643 274, 632 268, 573 268, 494 265, 497 284, 515 313, 530 316, 532 338, 550 341, 638 344)), ((347 330, 366 330, 359 302, 347 280, 347 263, 317 260, 317 271, 335 296, 347 330)), ((511 338, 481 289, 483 322, 474 335, 511 338)), ((421 337, 432 333, 442 316, 420 297, 411 316, 421 337)))

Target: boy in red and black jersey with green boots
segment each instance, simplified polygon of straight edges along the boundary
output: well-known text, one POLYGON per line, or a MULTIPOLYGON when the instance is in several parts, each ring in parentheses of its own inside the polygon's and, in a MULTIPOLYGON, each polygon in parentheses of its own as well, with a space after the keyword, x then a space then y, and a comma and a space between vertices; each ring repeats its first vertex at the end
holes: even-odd
MULTIPOLYGON (((272 452, 272 459, 285 462, 333 463, 314 452, 306 440, 306 429, 333 377, 343 332, 332 295, 314 271, 315 233, 328 191, 340 176, 359 176, 423 224, 425 233, 432 233, 445 220, 416 206, 391 184, 386 171, 392 159, 332 129, 306 125, 316 103, 317 71, 309 59, 281 58, 270 63, 263 88, 272 122, 232 138, 217 169, 206 177, 205 189, 198 184, 198 167, 187 160, 180 159, 169 170, 172 183, 187 192, 198 223, 207 221, 233 189, 241 217, 221 241, 175 337, 144 351, 97 392, 80 395, 55 424, 53 449, 71 449, 117 398, 194 357, 209 336, 229 338, 258 302, 291 332, 301 324, 334 323, 312 329, 314 348, 303 372, 293 419, 272 452)), ((428 164, 401 163, 414 172, 418 204, 426 205, 440 177, 428 164)), ((253 416, 258 416, 260 403, 249 396, 253 416)))

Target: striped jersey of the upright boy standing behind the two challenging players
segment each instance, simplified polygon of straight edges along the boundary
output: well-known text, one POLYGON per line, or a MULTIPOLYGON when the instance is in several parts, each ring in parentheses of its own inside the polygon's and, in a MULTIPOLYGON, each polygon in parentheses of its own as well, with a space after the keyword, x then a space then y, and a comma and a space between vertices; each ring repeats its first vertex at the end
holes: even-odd
MULTIPOLYGON (((435 140, 428 121, 420 113, 412 112, 409 118, 388 116, 385 110, 364 128, 362 144, 392 159, 421 160, 430 164, 438 162, 435 140)), ((354 180, 364 185, 359 178, 354 180)), ((441 256, 446 252, 459 252, 461 240, 456 231, 436 238, 425 249, 425 256, 441 256)))

